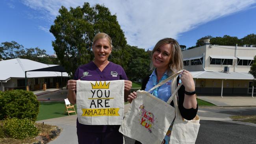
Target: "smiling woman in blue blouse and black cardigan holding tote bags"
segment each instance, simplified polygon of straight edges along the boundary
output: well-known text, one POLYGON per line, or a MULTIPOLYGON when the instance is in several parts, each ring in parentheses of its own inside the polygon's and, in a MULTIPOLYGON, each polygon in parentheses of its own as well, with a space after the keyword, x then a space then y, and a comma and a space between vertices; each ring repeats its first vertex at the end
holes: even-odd
MULTIPOLYGON (((151 70, 153 70, 150 76, 143 79, 142 90, 148 91, 156 84, 160 83, 164 79, 173 75, 174 73, 182 70, 183 60, 180 45, 175 39, 165 38, 161 39, 156 43, 156 46, 151 52, 151 70)), ((171 80, 164 85, 152 90, 154 96, 167 102, 171 96, 171 80)), ((180 114, 187 120, 192 120, 198 110, 196 95, 195 95, 195 84, 193 77, 189 71, 184 70, 180 73, 177 79, 178 83, 182 82, 183 85, 178 90, 178 106, 180 114)), ((128 95, 127 100, 132 102, 136 98, 136 92, 132 92, 128 95)), ((171 102, 173 106, 173 102, 171 102)), ((170 127, 171 129, 171 127, 170 127)), ((169 144, 170 135, 166 135, 164 142, 169 144)), ((141 144, 136 141, 135 144, 141 144)))

